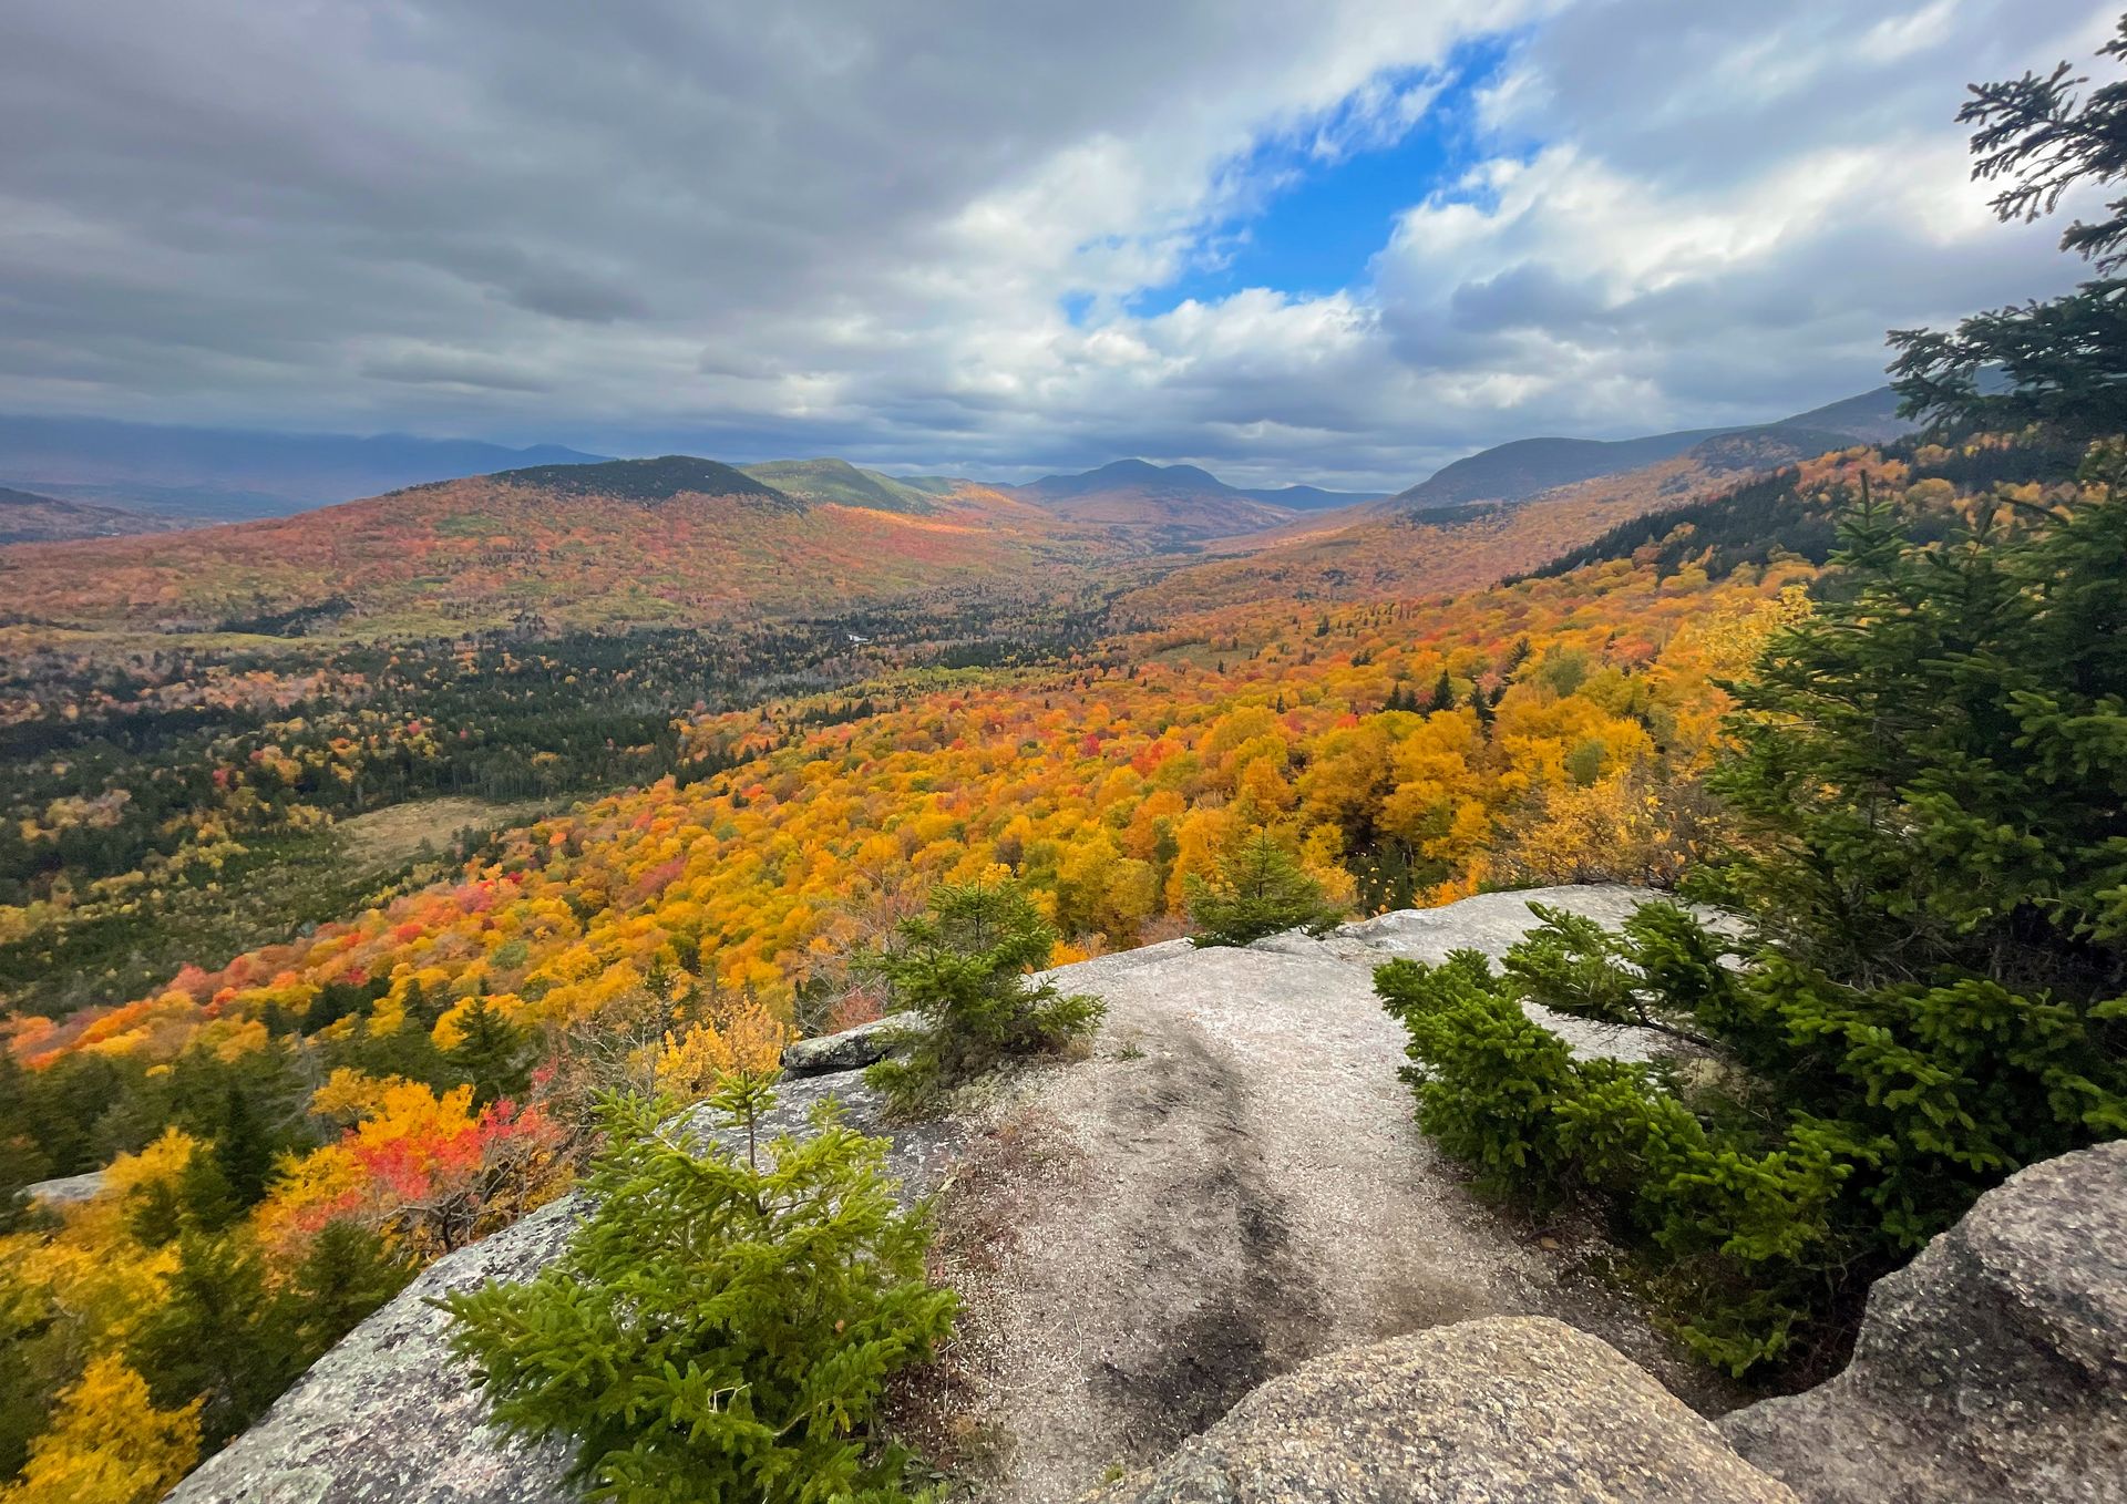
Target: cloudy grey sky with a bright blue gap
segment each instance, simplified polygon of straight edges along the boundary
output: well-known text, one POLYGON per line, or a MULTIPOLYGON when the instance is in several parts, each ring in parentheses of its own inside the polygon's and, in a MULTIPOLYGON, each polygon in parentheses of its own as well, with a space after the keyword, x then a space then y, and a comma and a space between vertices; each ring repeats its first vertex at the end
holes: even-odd
POLYGON ((2116 15, 9 0, 0 413, 1400 489, 2063 291, 1955 113, 2116 15))

